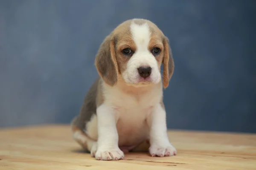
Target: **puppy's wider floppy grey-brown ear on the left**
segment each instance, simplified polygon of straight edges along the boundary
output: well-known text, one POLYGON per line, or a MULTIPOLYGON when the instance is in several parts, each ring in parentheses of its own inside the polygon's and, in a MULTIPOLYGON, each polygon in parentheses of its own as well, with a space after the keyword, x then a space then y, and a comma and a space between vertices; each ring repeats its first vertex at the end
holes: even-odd
POLYGON ((118 76, 118 67, 116 62, 115 38, 108 35, 100 45, 96 55, 95 66, 104 82, 108 85, 115 85, 118 76))

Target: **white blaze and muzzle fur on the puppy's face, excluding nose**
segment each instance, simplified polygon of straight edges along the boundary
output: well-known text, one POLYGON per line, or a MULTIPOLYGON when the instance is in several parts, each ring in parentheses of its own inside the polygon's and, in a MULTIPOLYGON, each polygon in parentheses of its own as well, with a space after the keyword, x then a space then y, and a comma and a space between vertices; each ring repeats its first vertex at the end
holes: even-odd
POLYGON ((148 24, 137 25, 132 23, 130 26, 132 38, 135 42, 137 50, 134 51, 133 56, 127 63, 126 70, 122 73, 125 82, 130 84, 137 84, 144 80, 138 73, 139 67, 151 67, 151 75, 146 78, 147 82, 157 84, 161 81, 160 71, 158 70, 157 60, 151 51, 148 49, 148 44, 151 37, 148 24))

